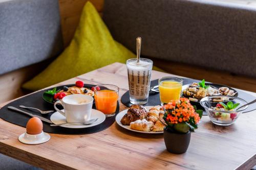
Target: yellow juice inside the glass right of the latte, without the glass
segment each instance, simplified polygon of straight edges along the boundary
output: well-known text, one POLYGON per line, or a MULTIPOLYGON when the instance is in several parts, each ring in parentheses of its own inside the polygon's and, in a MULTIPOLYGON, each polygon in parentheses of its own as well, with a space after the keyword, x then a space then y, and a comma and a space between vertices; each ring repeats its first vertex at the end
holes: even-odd
POLYGON ((179 100, 182 84, 176 81, 162 81, 159 84, 160 100, 168 103, 170 100, 179 100))

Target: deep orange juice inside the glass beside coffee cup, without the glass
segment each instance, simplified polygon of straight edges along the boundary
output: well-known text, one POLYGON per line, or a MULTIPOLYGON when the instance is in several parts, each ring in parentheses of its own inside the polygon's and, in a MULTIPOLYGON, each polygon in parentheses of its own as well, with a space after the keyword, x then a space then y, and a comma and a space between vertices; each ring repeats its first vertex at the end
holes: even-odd
POLYGON ((118 93, 114 90, 99 90, 94 95, 97 110, 104 114, 113 114, 116 111, 118 93))

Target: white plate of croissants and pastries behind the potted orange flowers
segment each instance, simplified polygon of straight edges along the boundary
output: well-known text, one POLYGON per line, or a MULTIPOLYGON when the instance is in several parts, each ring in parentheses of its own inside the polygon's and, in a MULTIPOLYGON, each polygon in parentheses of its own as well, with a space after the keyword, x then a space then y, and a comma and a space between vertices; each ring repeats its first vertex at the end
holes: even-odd
POLYGON ((139 132, 158 134, 163 133, 165 125, 162 123, 164 111, 161 106, 133 105, 121 111, 116 116, 116 122, 124 129, 139 132))

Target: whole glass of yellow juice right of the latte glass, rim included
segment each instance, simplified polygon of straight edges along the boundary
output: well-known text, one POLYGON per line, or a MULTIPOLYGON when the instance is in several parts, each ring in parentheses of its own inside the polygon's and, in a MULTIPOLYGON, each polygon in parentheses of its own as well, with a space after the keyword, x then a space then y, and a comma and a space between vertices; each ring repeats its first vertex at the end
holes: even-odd
POLYGON ((159 92, 161 105, 171 100, 179 100, 183 80, 176 77, 163 77, 159 79, 159 92))

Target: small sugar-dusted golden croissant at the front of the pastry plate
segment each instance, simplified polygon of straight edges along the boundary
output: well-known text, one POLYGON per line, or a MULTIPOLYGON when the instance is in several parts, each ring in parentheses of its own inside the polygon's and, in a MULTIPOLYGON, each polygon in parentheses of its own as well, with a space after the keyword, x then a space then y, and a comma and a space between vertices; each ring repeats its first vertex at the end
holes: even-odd
POLYGON ((148 122, 146 119, 136 120, 130 124, 131 129, 143 132, 150 132, 153 126, 153 122, 148 122))

